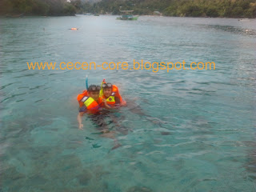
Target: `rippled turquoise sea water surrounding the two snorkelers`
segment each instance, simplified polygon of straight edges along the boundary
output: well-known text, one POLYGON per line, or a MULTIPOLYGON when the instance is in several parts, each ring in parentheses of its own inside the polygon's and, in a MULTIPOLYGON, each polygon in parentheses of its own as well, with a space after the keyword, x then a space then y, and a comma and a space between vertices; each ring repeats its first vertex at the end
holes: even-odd
MULTIPOLYGON (((256 21, 114 16, 0 18, 0 191, 256 190, 256 21), (77 27, 77 31, 68 30, 77 27), (28 70, 26 62, 215 62, 215 70, 28 70), (129 107, 77 94, 103 78, 129 107), (119 133, 122 127, 128 133, 119 133)), ((190 65, 187 65, 189 67, 190 65)))

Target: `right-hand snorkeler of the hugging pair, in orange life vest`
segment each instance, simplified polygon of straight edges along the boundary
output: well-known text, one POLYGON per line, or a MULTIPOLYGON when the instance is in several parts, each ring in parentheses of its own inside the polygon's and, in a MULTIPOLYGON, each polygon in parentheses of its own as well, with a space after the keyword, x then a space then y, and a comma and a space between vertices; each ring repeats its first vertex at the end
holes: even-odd
POLYGON ((118 86, 112 85, 110 82, 107 83, 104 80, 102 82, 101 97, 106 109, 126 106, 126 101, 119 94, 118 86))

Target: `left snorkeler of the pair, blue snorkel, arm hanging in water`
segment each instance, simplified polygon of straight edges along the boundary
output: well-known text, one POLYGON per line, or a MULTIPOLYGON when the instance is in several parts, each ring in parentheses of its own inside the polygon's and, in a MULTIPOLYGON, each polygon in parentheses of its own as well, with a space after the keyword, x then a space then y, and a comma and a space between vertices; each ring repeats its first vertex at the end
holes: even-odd
POLYGON ((78 94, 79 113, 78 128, 82 130, 82 116, 85 113, 97 114, 102 108, 102 98, 99 97, 101 86, 91 85, 88 90, 84 90, 82 94, 78 94))

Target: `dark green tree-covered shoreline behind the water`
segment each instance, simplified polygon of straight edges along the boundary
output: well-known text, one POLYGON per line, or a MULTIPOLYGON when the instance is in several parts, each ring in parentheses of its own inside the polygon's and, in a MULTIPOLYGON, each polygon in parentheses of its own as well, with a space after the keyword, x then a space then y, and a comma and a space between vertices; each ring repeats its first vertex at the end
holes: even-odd
POLYGON ((256 0, 2 0, 1 15, 64 16, 74 14, 155 13, 173 17, 256 18, 256 0))

